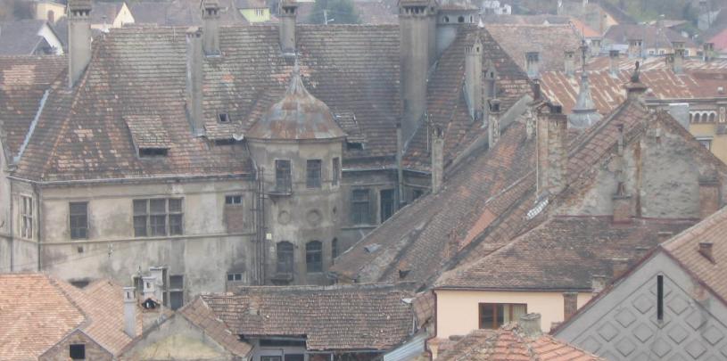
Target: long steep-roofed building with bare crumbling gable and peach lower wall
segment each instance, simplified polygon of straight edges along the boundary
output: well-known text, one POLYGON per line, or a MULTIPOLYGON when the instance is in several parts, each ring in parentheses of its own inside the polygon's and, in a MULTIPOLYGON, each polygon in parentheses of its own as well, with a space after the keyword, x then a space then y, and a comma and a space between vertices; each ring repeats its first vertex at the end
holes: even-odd
POLYGON ((490 151, 368 234, 331 274, 434 284, 437 339, 525 312, 540 312, 544 330, 562 322, 598 291, 591 276, 613 279, 660 233, 724 201, 723 162, 668 113, 648 109, 638 72, 627 89, 622 105, 580 131, 559 106, 531 103, 490 151))

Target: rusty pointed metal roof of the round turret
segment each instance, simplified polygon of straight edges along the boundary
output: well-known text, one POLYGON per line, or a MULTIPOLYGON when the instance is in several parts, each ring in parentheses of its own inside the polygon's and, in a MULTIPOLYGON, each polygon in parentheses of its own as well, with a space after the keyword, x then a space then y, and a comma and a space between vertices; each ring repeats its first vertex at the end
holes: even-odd
POLYGON ((326 103, 311 95, 303 86, 296 62, 290 84, 280 102, 273 104, 245 137, 267 140, 323 140, 345 137, 326 103))

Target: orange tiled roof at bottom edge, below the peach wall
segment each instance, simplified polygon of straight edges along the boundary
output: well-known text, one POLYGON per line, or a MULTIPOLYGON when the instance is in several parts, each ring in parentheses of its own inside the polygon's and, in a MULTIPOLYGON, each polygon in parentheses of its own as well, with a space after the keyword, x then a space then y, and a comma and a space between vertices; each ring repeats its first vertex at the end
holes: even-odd
POLYGON ((528 336, 517 324, 498 330, 475 330, 446 345, 438 355, 442 361, 605 361, 548 334, 528 336))

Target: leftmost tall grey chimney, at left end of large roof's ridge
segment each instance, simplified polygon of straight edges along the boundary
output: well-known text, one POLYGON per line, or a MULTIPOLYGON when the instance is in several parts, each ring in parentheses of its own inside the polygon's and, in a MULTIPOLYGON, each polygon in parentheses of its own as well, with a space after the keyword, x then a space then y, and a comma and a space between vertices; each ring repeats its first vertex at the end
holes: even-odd
POLYGON ((91 0, 68 2, 68 83, 75 86, 91 62, 91 0))

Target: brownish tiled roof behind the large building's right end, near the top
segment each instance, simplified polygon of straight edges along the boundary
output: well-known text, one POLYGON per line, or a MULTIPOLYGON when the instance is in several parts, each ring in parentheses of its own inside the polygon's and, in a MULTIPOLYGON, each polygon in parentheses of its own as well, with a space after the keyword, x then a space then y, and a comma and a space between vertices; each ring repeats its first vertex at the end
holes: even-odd
POLYGON ((563 70, 565 52, 577 53, 581 45, 580 34, 570 24, 485 24, 485 29, 522 70, 527 70, 525 53, 528 52, 540 53, 541 72, 563 70))

